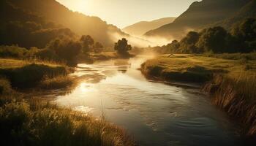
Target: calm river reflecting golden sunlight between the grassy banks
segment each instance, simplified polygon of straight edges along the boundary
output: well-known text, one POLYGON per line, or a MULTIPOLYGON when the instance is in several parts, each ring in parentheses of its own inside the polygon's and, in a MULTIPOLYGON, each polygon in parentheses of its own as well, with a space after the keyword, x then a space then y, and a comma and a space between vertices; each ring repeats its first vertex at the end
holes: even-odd
POLYGON ((55 102, 125 128, 139 145, 240 145, 236 126, 199 88, 146 80, 148 56, 78 64, 78 86, 55 102))

